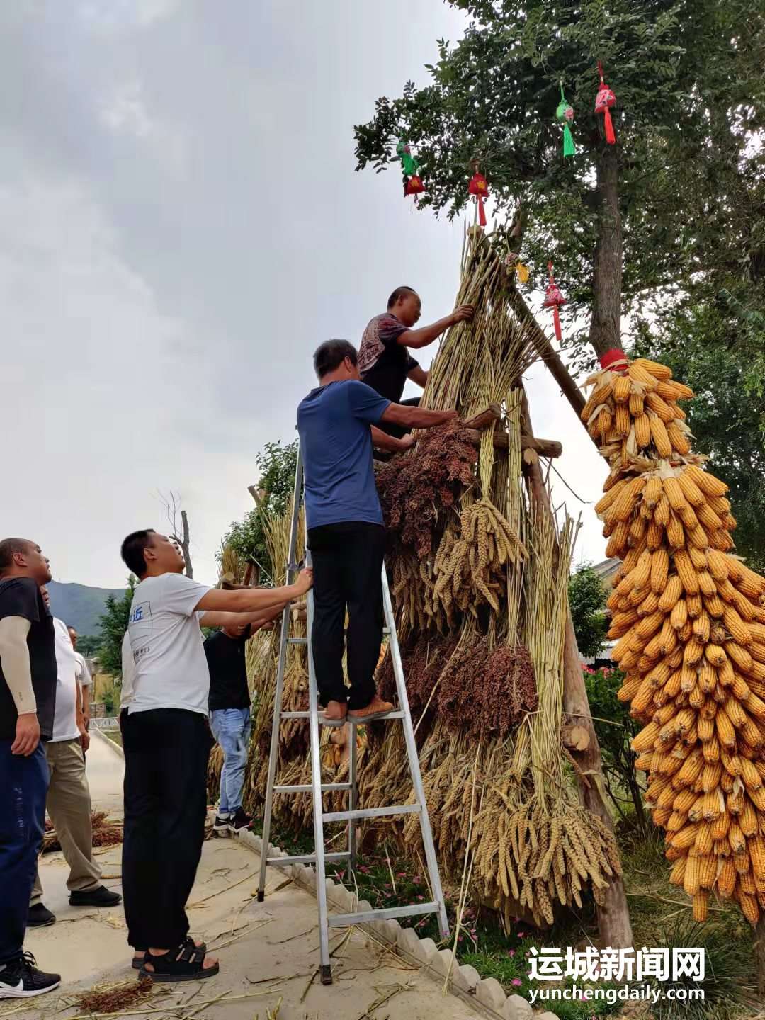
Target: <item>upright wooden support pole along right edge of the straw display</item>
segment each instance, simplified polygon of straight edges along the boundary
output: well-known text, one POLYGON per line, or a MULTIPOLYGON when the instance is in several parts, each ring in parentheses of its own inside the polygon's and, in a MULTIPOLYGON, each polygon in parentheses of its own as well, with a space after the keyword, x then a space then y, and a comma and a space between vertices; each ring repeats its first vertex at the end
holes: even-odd
MULTIPOLYGON (((528 401, 525 391, 521 392, 521 427, 528 436, 532 436, 528 401)), ((548 513, 552 513, 550 498, 542 480, 539 461, 529 464, 528 478, 537 505, 540 508, 545 508, 548 513)), ((590 733, 590 744, 584 751, 571 750, 571 755, 577 765, 579 800, 588 811, 600 818, 604 825, 613 832, 613 820, 603 793, 601 749, 590 713, 584 676, 581 671, 581 659, 576 647, 576 635, 570 612, 566 618, 566 633, 563 645, 563 712, 566 715, 566 722, 583 726, 590 733)), ((632 946, 632 926, 629 923, 629 907, 624 882, 621 878, 615 877, 610 882, 605 891, 604 903, 596 906, 602 948, 629 949, 632 946)))

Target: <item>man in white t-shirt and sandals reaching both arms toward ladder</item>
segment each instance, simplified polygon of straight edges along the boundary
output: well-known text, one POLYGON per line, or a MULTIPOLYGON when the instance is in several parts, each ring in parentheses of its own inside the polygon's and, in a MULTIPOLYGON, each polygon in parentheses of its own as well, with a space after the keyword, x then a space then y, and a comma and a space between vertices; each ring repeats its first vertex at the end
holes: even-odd
POLYGON ((143 955, 141 974, 153 980, 211 977, 217 961, 189 937, 186 916, 202 853, 212 746, 200 625, 259 627, 308 591, 312 573, 304 570, 284 588, 212 589, 184 576, 181 550, 150 528, 129 534, 121 556, 140 578, 128 624, 134 668, 126 695, 122 680, 119 716, 128 941, 134 966, 143 955))

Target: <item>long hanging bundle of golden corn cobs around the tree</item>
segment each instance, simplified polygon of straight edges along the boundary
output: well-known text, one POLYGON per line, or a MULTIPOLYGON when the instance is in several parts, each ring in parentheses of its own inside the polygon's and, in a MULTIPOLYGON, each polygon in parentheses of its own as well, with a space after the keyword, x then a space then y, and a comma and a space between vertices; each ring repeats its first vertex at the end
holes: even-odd
MULTIPOLYGON (((621 352, 616 352, 619 357, 621 352)), ((607 356, 608 357, 608 356, 607 356)), ((621 355, 582 411, 611 472, 596 506, 622 560, 608 606, 632 748, 666 830, 670 880, 707 917, 711 892, 765 911, 765 578, 732 555, 727 487, 692 452, 665 365, 621 355)))

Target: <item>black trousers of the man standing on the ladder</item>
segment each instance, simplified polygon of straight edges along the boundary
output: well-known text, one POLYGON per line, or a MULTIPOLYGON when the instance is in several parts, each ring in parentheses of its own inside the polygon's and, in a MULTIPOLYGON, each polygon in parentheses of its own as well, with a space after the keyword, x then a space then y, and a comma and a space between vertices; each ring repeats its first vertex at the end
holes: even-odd
POLYGON ((374 667, 382 642, 381 524, 344 521, 308 531, 313 561, 311 647, 319 702, 366 708, 374 697, 374 667), (348 606, 348 678, 343 681, 343 630, 348 606))

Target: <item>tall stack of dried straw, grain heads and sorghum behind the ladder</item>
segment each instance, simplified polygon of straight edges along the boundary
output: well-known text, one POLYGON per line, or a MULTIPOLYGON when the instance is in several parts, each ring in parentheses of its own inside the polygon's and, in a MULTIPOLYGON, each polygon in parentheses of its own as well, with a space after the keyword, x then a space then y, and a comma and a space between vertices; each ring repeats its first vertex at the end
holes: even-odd
MULTIPOLYGON (((425 494, 430 504, 424 532, 414 529, 411 539, 403 524, 391 524, 388 569, 405 674, 408 662, 412 667, 420 767, 442 873, 447 880, 469 874, 474 895, 493 903, 508 922, 525 909, 542 925, 552 923, 555 902, 581 905, 586 890, 600 899, 620 865, 611 833, 580 807, 561 744, 567 581, 576 526, 568 517, 558 523, 523 479, 521 373, 534 354, 526 325, 511 310, 511 288, 483 232, 470 228, 457 303, 472 304, 475 316, 447 335, 423 406, 456 408, 469 418, 499 404, 496 427, 507 435, 507 445, 496 449, 488 429, 477 463, 474 456, 461 458, 451 475, 454 484, 425 494), (473 661, 482 665, 471 668, 473 661), (492 697, 497 722, 483 725, 492 697), (513 711, 503 711, 506 702, 513 711)), ((445 436, 458 442, 459 427, 445 436)), ((380 472, 384 507, 391 504, 387 487, 397 474, 435 477, 438 457, 428 442, 421 453, 415 447, 400 458, 393 472, 380 472)), ((447 450, 446 440, 443 445, 447 450)), ((289 520, 289 513, 271 519, 267 536, 282 577, 289 520)), ((262 809, 265 793, 277 647, 273 632, 258 677, 247 773, 246 807, 253 813, 262 809)), ((288 655, 285 707, 304 708, 306 653, 290 646, 288 655)), ((379 679, 386 691, 390 677, 385 659, 379 679)), ((411 803, 402 727, 375 723, 365 735, 360 803, 411 803)), ((327 781, 338 781, 347 765, 336 764, 327 742, 325 732, 322 767, 327 781)), ((282 725, 276 781, 310 781, 308 730, 300 721, 282 725)), ((345 793, 327 795, 329 810, 346 806, 346 799, 345 793)), ((310 826, 310 798, 277 798, 274 813, 283 825, 310 826)), ((368 842, 379 832, 370 823, 368 842)), ((409 856, 421 855, 416 815, 393 828, 387 822, 386 835, 391 833, 409 856)))

